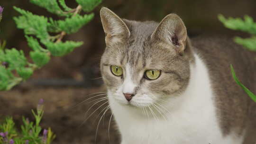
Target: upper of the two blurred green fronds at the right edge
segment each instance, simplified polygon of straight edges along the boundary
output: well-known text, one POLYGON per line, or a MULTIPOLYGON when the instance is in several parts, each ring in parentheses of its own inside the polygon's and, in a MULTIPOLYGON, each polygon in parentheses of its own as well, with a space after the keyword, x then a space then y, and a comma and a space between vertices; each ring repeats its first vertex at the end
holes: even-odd
POLYGON ((256 34, 256 23, 254 23, 253 18, 249 16, 245 16, 245 20, 242 20, 241 18, 226 19, 223 15, 219 15, 218 18, 225 27, 233 30, 245 31, 253 35, 256 34))

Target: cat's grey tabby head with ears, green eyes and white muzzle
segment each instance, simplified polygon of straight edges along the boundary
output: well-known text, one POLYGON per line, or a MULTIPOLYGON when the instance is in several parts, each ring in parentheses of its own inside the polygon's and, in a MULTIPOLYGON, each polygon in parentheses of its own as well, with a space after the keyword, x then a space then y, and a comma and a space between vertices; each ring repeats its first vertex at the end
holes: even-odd
POLYGON ((109 97, 143 107, 186 89, 193 58, 179 16, 169 14, 159 24, 138 22, 102 8, 101 22, 106 34, 101 74, 109 97))

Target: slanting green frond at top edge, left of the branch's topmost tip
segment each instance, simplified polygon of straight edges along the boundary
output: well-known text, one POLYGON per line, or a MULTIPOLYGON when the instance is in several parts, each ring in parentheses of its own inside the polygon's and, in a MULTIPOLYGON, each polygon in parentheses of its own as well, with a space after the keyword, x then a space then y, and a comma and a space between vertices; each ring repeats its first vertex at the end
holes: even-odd
POLYGON ((30 0, 30 2, 58 16, 67 16, 56 0, 30 0))

